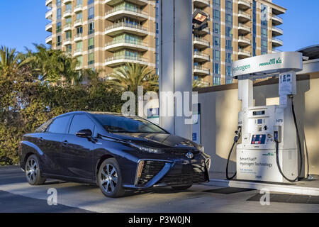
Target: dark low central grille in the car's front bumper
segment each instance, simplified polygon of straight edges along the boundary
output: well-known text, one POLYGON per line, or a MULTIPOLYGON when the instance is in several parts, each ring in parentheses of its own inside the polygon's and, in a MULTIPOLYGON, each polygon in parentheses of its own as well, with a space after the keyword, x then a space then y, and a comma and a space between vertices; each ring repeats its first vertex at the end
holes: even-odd
POLYGON ((201 182, 206 182, 205 172, 197 172, 192 174, 184 175, 166 175, 159 183, 161 184, 198 184, 201 182))

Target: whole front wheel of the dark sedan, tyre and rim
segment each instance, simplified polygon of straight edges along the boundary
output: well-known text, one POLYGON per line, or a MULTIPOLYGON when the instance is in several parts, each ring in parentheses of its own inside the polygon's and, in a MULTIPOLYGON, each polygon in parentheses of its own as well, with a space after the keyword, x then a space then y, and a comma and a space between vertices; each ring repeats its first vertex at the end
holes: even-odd
POLYGON ((105 196, 116 198, 124 195, 121 170, 115 158, 108 158, 102 162, 97 179, 105 196))

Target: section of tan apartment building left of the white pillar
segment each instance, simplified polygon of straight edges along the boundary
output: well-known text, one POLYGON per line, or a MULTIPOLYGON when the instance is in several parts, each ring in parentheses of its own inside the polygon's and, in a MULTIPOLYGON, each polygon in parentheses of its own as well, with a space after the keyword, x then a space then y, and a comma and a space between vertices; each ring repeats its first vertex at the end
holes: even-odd
POLYGON ((125 62, 155 68, 155 1, 47 0, 47 44, 77 57, 78 69, 125 62))

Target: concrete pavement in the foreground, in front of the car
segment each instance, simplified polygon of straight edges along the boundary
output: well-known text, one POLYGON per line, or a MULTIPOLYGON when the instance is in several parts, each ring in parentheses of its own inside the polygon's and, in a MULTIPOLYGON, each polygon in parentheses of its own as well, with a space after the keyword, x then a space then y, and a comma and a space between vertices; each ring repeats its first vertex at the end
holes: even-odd
MULTIPOLYGON (((318 212, 318 204, 286 204, 272 202, 262 206, 259 201, 247 201, 259 193, 258 190, 219 194, 204 192, 217 189, 211 185, 194 185, 185 192, 176 192, 169 187, 150 192, 135 192, 128 196, 106 198, 99 187, 50 180, 45 185, 30 186, 19 167, 0 167, 0 212, 21 212, 33 203, 43 207, 44 212, 318 212), (47 189, 57 189, 60 207, 47 205, 47 189), (9 194, 8 194, 9 193, 9 194), (21 197, 23 196, 23 197, 21 197), (4 199, 6 198, 6 199, 4 199), (30 199, 30 200, 29 200, 30 199), (41 201, 40 201, 41 200, 41 201), (4 206, 2 206, 4 205, 4 206), (10 208, 10 209, 9 209, 10 208), (73 210, 72 210, 73 209, 73 210)), ((36 210, 34 210, 36 212, 36 210)))

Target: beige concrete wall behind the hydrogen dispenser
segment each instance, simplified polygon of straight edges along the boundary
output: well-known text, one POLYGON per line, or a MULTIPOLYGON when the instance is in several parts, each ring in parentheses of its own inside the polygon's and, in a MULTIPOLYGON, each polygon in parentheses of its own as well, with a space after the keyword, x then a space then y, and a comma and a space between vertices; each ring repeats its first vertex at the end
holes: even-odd
MULTIPOLYGON (((296 118, 301 134, 304 171, 319 174, 319 72, 298 75, 295 97, 296 118), (307 152, 308 151, 308 152, 307 152)), ((237 113, 241 102, 237 99, 237 84, 197 89, 201 104, 201 141, 205 152, 213 158, 211 171, 225 172, 228 152, 237 129, 237 113)), ((279 104, 278 79, 254 83, 256 106, 279 104)), ((235 150, 230 171, 235 171, 235 150)))

